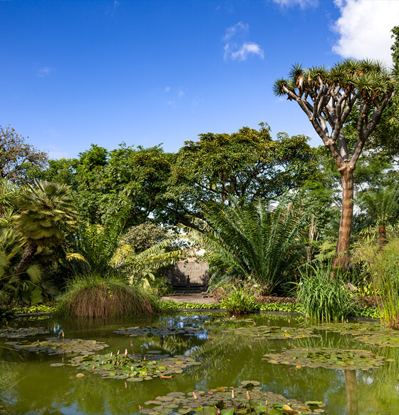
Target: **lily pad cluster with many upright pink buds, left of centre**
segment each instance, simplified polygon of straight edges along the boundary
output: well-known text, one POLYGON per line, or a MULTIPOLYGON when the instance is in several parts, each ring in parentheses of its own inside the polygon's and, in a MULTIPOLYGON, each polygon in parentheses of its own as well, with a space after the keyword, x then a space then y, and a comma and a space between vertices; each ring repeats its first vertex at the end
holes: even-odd
MULTIPOLYGON (((89 372, 100 374, 103 377, 112 377, 113 379, 145 379, 150 380, 155 377, 170 378, 174 374, 182 373, 183 369, 200 364, 192 357, 147 354, 140 356, 135 354, 95 354, 86 356, 77 356, 71 359, 71 366, 86 369, 89 372)), ((161 400, 156 398, 156 400, 161 400)), ((172 396, 165 399, 172 401, 172 396)))

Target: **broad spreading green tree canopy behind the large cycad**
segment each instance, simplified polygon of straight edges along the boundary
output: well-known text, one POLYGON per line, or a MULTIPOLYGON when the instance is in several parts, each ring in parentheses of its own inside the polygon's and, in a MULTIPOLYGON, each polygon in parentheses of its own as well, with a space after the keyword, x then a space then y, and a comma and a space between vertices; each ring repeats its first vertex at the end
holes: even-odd
POLYGON ((232 134, 200 134, 186 141, 172 164, 167 197, 201 217, 203 203, 275 200, 314 174, 316 158, 304 135, 270 136, 268 125, 232 134))

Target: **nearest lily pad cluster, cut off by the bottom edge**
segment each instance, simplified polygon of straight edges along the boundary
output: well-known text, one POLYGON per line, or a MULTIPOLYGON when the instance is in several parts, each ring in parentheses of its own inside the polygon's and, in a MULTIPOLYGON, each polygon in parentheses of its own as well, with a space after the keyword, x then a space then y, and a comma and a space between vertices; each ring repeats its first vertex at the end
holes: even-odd
POLYGON ((311 401, 307 405, 294 399, 286 399, 282 395, 263 391, 258 381, 243 381, 240 386, 234 388, 234 402, 232 400, 232 387, 219 386, 209 391, 194 391, 183 394, 182 392, 172 392, 167 396, 157 396, 155 401, 145 402, 145 408, 140 409, 141 414, 145 415, 169 415, 169 414, 193 414, 197 412, 202 415, 232 415, 237 409, 238 414, 249 414, 249 404, 251 413, 257 414, 320 414, 324 404, 322 402, 311 401), (253 385, 248 392, 248 386, 253 385), (250 401, 248 400, 248 395, 250 401), (172 400, 165 399, 172 397, 172 400), (267 401, 267 406, 266 406, 267 401), (235 404, 235 408, 234 408, 235 404), (284 411, 284 409, 286 411, 284 411))

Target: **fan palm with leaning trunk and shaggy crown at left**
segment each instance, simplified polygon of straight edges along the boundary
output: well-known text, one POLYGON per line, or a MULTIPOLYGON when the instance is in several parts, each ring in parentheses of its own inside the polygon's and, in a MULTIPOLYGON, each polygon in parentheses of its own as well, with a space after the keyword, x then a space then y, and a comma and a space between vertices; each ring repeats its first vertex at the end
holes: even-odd
POLYGON ((34 183, 34 186, 27 185, 14 200, 14 205, 21 211, 14 216, 14 223, 25 242, 16 274, 26 270, 38 247, 61 244, 65 233, 76 228, 78 218, 70 186, 46 180, 35 180, 34 183))

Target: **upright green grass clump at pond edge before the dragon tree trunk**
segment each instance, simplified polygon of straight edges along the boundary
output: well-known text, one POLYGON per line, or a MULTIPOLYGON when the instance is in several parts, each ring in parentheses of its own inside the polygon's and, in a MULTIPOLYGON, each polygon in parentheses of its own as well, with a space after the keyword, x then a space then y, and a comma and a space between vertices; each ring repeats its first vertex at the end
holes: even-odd
POLYGON ((351 312, 351 297, 346 282, 333 271, 331 262, 307 265, 297 285, 297 301, 307 318, 314 321, 343 320, 351 312))

